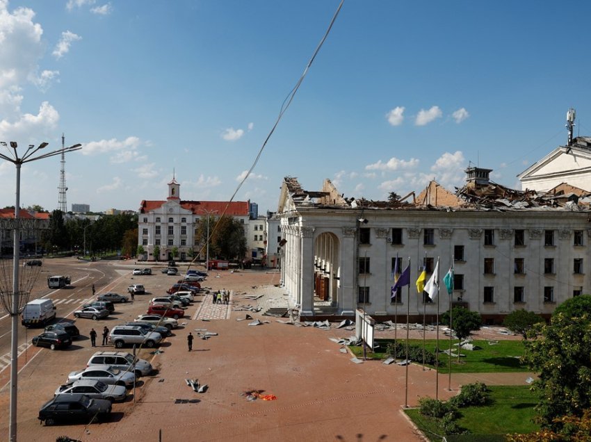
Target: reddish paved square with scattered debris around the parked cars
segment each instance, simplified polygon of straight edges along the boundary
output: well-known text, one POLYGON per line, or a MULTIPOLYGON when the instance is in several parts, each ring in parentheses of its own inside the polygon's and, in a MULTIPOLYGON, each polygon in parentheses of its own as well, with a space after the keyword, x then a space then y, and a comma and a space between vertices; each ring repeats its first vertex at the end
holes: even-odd
MULTIPOLYGON (((65 434, 81 441, 157 441, 159 434, 163 441, 420 440, 400 411, 405 403, 405 373, 409 374, 409 404, 414 405, 419 396, 434 395, 435 372, 414 365, 406 372, 405 367, 379 362, 353 363, 351 355, 342 353, 330 338, 348 337, 354 331, 296 327, 263 316, 269 307, 287 306, 287 297, 276 286, 278 272, 257 270, 210 272, 203 285, 230 290, 229 304, 213 304, 211 294, 198 297, 173 336, 156 349, 140 350, 139 356, 156 371, 141 377, 127 400, 113 404, 107 423, 40 425, 39 408, 68 373, 83 368, 95 350, 114 350, 113 346, 90 347, 90 328, 98 331, 106 325, 111 329, 133 320, 145 312, 149 299, 163 295, 178 279, 156 268, 153 275, 133 276, 131 271, 137 267, 133 262, 89 265, 114 270, 111 279, 95 283, 97 295, 105 290, 126 294, 127 286, 134 283, 145 285, 148 293, 136 295, 134 302, 117 304, 115 313, 104 320, 76 320, 82 336, 67 350, 29 347, 22 354, 19 440, 51 441, 65 434), (249 311, 252 306, 260 306, 261 311, 249 311), (250 325, 256 319, 261 325, 250 325), (196 337, 192 352, 187 350, 189 331, 196 337), (211 337, 200 337, 208 332, 211 337), (152 354, 154 350, 158 351, 152 354), (196 393, 187 379, 207 384, 207 391, 196 393), (246 394, 252 391, 260 395, 246 394)), ((93 271, 97 272, 89 268, 89 275, 93 271)), ((108 274, 104 268, 100 272, 108 274)), ((88 279, 88 286, 92 281, 88 279)), ((26 331, 29 342, 38 331, 26 331)), ((8 370, 0 373, 0 405, 5 410, 7 375, 8 370)), ((440 381, 439 398, 455 394, 458 382, 462 379, 453 379, 452 391, 447 391, 446 382, 440 381)), ((8 414, 2 414, 0 436, 7 434, 8 414)))

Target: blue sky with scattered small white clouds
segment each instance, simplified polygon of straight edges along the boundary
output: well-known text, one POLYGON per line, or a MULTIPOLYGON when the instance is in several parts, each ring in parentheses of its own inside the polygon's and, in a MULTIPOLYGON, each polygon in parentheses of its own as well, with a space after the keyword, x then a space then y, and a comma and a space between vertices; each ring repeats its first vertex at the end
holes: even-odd
MULTIPOLYGON (((339 0, 0 0, 0 140, 82 143, 67 206, 229 199, 339 0)), ((236 195, 275 211, 283 177, 346 197, 453 190, 469 162, 516 175, 591 135, 591 36, 573 1, 346 0, 236 195)), ((24 149, 23 149, 24 150, 24 149)), ((60 157, 22 167, 21 204, 58 208, 60 157)), ((0 206, 15 167, 0 163, 0 206)))

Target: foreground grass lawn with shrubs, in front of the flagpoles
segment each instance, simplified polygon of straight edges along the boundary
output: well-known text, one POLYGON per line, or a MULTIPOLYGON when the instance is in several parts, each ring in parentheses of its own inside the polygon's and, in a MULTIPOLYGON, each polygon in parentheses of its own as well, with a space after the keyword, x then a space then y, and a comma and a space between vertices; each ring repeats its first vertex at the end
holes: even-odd
MULTIPOLYGON (((540 429, 532 423, 537 402, 528 386, 489 386, 489 402, 483 407, 460 409, 458 425, 470 434, 447 436, 453 441, 503 441, 504 434, 530 433, 540 429)), ((442 430, 437 421, 419 414, 418 409, 406 411, 414 424, 432 441, 441 441, 442 430)))

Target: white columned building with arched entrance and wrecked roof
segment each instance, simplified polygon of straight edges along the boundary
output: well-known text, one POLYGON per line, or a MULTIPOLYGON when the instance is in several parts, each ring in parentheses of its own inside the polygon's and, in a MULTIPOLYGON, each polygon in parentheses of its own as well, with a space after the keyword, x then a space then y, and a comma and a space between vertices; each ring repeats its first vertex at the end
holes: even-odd
POLYGON ((414 196, 389 202, 346 199, 330 180, 304 190, 286 177, 277 216, 284 241, 282 284, 302 318, 353 317, 365 307, 376 320, 428 320, 437 302, 416 292, 439 259, 443 279, 453 265, 450 297, 441 283, 439 309, 453 303, 478 311, 486 324, 526 309, 549 316, 560 302, 590 293, 591 211, 588 192, 565 183, 544 193, 489 181, 469 167, 456 193, 432 181, 414 196), (410 260, 407 287, 391 296, 394 261, 410 260))

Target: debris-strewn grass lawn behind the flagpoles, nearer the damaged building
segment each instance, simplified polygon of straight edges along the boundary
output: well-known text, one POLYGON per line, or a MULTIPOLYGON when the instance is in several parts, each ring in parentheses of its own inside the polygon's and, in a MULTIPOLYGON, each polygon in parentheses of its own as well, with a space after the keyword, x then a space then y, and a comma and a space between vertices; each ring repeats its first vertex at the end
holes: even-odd
MULTIPOLYGON (((400 343, 405 343, 405 340, 398 339, 400 343)), ((376 339, 376 343, 380 344, 378 352, 367 352, 368 359, 386 359, 389 355, 386 353, 386 348, 389 342, 394 342, 394 339, 376 339)), ((411 339, 408 341, 410 345, 423 346, 422 339, 411 339)), ((453 340, 452 344, 458 343, 458 340, 453 340)), ((521 366, 519 357, 524 353, 524 345, 521 341, 499 341, 498 344, 489 345, 489 341, 472 341, 473 345, 478 345, 481 350, 462 350, 461 354, 465 357, 452 358, 451 373, 510 373, 510 372, 526 372, 529 371, 526 366, 521 366)), ((437 341, 435 339, 427 339, 425 341, 425 348, 433 352, 437 341)), ((356 357, 363 357, 363 347, 350 346, 350 350, 356 357)), ((439 339, 439 348, 446 350, 449 348, 449 339, 439 339)), ((452 345, 452 349, 457 353, 457 345, 452 345)), ((398 359, 404 359, 404 354, 398 354, 398 359)), ((420 363, 420 361, 418 362, 420 363)), ((448 371, 449 357, 445 353, 439 353, 439 373, 449 373, 448 371)))

